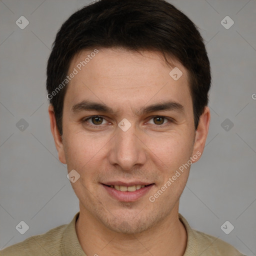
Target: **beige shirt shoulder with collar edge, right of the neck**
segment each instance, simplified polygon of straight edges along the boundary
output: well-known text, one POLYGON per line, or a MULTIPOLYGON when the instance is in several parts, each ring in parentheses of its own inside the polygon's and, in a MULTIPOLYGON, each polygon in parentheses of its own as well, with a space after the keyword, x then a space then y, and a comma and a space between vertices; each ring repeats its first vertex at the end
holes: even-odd
POLYGON ((184 256, 245 256, 231 244, 218 237, 192 229, 180 213, 179 220, 183 223, 187 232, 187 244, 184 256))

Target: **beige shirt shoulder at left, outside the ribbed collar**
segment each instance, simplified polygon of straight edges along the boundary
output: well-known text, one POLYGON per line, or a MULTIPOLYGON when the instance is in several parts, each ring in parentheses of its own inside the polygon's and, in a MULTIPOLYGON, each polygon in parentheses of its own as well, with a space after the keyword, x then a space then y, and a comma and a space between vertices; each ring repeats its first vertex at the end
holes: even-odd
POLYGON ((60 242, 67 224, 34 235, 0 251, 0 256, 60 255, 60 242))

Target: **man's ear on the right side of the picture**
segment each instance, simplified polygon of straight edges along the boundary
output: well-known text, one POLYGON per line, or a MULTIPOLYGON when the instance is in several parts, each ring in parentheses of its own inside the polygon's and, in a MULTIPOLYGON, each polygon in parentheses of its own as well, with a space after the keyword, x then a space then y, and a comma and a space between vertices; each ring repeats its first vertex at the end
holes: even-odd
POLYGON ((206 138, 208 135, 209 123, 210 123, 210 110, 208 106, 205 106, 204 111, 199 118, 197 129, 195 131, 195 139, 194 139, 192 156, 197 155, 197 157, 196 159, 192 157, 191 159, 192 162, 198 161, 203 152, 206 138))

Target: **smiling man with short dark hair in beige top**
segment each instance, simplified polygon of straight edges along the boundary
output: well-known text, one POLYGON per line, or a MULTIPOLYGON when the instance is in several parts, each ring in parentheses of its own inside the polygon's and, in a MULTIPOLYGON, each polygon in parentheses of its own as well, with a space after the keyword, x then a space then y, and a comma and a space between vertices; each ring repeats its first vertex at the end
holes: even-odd
POLYGON ((204 148, 210 66, 163 0, 100 0, 72 14, 47 66, 51 132, 80 211, 0 255, 241 255, 178 213, 204 148))

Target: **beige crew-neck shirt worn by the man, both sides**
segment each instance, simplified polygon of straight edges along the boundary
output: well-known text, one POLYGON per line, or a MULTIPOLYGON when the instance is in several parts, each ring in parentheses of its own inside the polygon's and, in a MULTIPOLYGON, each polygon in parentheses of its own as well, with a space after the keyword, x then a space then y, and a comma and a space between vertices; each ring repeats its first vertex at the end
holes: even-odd
MULTIPOLYGON (((0 251, 0 256, 86 256, 75 231, 75 214, 69 224, 64 224, 46 233, 31 236, 22 242, 0 251)), ((244 256, 230 244, 203 232, 191 229, 186 219, 179 213, 179 219, 187 232, 184 256, 244 256)))

